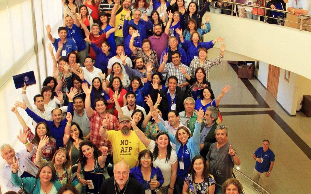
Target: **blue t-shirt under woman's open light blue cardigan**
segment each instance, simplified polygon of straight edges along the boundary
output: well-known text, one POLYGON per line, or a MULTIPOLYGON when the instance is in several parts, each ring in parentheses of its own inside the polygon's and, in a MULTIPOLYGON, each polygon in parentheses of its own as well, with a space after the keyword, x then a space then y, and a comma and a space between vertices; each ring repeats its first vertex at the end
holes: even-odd
POLYGON ((177 152, 177 159, 178 159, 177 178, 178 179, 184 179, 188 175, 188 170, 191 166, 190 152, 188 150, 188 147, 187 145, 185 145, 183 148, 182 147, 180 147, 180 149, 177 152), (180 169, 180 166, 179 166, 179 163, 181 161, 183 162, 183 170, 180 169))

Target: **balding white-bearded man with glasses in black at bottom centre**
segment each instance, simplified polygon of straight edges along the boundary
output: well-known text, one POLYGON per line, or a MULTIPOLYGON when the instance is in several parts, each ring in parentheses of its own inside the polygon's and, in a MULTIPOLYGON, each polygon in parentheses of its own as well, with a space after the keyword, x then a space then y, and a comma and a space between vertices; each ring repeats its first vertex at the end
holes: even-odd
POLYGON ((144 194, 142 185, 135 178, 129 177, 129 172, 128 164, 118 162, 114 165, 114 176, 104 180, 99 193, 144 194))

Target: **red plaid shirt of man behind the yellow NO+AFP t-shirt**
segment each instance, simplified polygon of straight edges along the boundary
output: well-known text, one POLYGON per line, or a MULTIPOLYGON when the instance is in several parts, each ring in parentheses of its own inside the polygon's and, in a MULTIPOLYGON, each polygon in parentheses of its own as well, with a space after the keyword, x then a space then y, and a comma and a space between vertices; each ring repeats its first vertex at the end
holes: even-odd
MULTIPOLYGON (((119 130, 119 122, 117 120, 117 117, 114 115, 111 115, 110 113, 106 112, 106 116, 109 116, 109 124, 106 130, 119 130)), ((106 117, 105 117, 106 118, 106 117)), ((90 128, 91 128, 91 138, 90 142, 94 143, 97 148, 100 148, 101 146, 108 147, 108 150, 112 150, 111 142, 105 141, 102 136, 99 134, 99 129, 102 126, 103 119, 97 111, 93 111, 92 117, 89 117, 90 120, 90 128)))

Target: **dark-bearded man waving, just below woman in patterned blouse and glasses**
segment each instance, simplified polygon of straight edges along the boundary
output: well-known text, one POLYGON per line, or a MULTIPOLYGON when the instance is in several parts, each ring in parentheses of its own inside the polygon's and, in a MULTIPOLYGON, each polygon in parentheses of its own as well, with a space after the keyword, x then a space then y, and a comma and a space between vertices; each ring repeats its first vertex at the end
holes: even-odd
MULTIPOLYGON (((145 61, 142 57, 138 57, 135 60, 136 63, 136 69, 132 69, 130 68, 127 63, 126 63, 126 58, 127 56, 124 56, 124 53, 121 54, 121 61, 122 64, 124 66, 125 72, 126 74, 128 74, 128 76, 130 76, 130 78, 132 79, 132 77, 137 76, 139 78, 147 78, 147 68, 145 66, 145 61)), ((148 62, 148 65, 152 65, 151 63, 148 62)), ((153 74, 153 72, 150 72, 151 75, 153 74)))

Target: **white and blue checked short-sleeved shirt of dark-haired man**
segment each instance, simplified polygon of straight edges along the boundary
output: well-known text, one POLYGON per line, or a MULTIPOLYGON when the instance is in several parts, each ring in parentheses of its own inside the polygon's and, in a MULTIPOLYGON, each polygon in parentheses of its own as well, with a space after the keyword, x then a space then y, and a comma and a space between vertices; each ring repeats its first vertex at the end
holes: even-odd
MULTIPOLYGON (((170 76, 176 76, 178 79, 178 84, 180 83, 184 83, 187 81, 186 77, 183 75, 183 73, 179 70, 179 67, 183 66, 183 68, 186 70, 187 74, 190 75, 190 69, 188 66, 184 65, 184 64, 180 64, 177 68, 175 67, 175 65, 173 63, 166 63, 165 67, 164 67, 164 73, 166 73, 166 78, 168 79, 170 76)), ((168 81, 168 80, 167 80, 168 81)), ((168 86, 167 81, 165 82, 165 87, 168 86)), ((182 88, 183 91, 186 90, 186 87, 182 88)))

